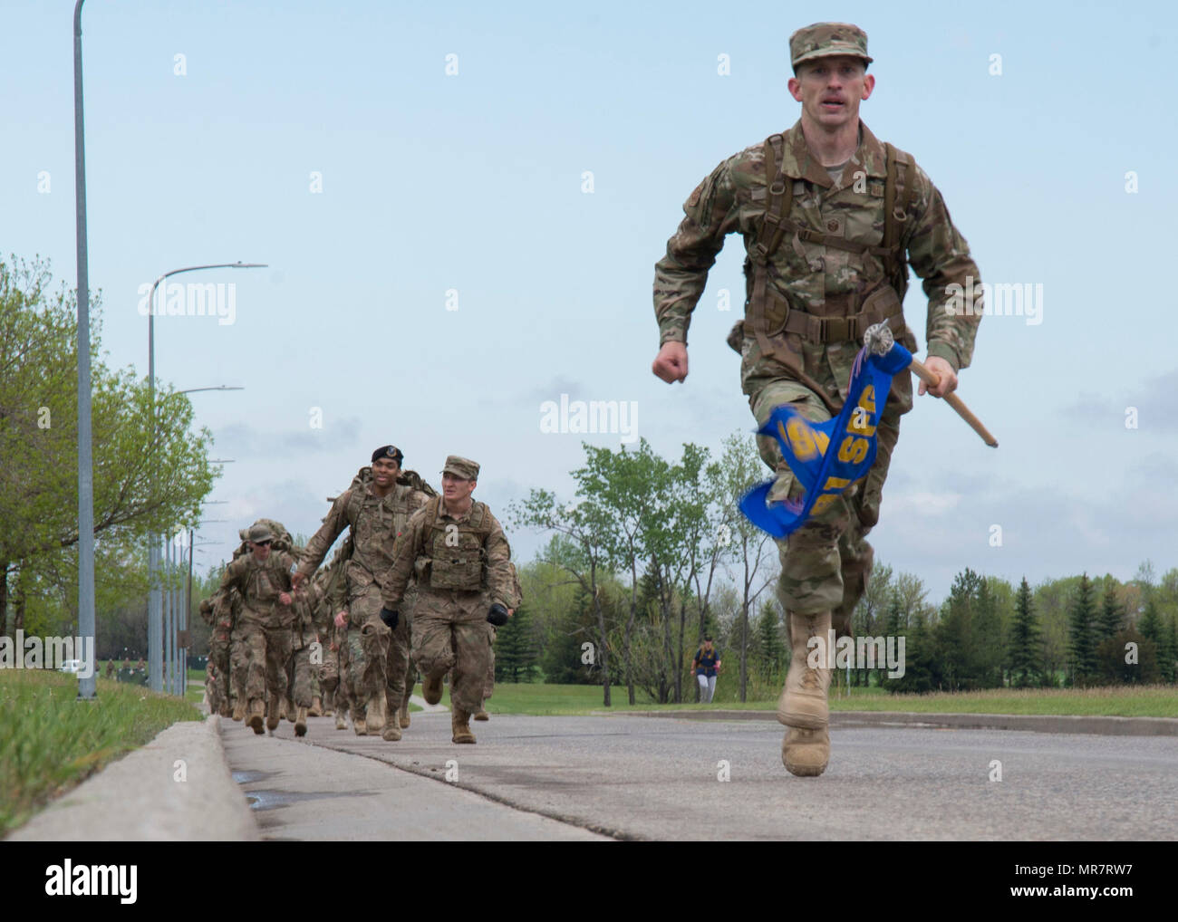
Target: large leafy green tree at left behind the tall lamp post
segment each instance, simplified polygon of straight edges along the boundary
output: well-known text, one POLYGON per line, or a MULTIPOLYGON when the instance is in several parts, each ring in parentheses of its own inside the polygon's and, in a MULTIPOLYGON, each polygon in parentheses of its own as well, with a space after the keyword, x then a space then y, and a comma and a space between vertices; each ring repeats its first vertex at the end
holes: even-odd
MULTIPOLYGON (((9 581, 62 572, 79 538, 77 301, 49 284, 47 264, 0 261, 0 634, 9 581)), ((147 382, 102 361, 99 298, 91 304, 97 561, 196 524, 217 475, 184 394, 160 387, 153 406, 147 382)), ((101 569, 95 577, 101 598, 101 569)))

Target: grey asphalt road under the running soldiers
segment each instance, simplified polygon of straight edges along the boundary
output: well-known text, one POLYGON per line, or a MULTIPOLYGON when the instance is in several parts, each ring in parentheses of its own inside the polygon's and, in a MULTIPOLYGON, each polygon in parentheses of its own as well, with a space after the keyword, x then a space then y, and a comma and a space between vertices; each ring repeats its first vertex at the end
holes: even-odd
POLYGON ((448 714, 415 714, 386 743, 312 718, 296 741, 285 722, 259 737, 221 718, 221 738, 264 838, 1178 837, 1176 737, 840 729, 826 774, 796 778, 770 722, 492 715, 471 727, 478 743, 454 745, 448 714))

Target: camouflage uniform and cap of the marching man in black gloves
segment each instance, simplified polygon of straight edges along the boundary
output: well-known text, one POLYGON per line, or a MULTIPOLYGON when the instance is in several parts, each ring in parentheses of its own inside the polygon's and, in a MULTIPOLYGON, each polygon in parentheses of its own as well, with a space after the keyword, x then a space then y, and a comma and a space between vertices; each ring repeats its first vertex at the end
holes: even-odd
MULTIPOLYGON (((466 472, 459 476, 475 479, 478 466, 459 460, 474 471, 462 469, 466 472)), ((397 540, 384 606, 399 611, 416 573, 413 661, 426 677, 439 678, 452 670, 450 701, 456 712, 482 709, 491 654, 487 616, 492 604, 510 606, 510 556, 502 525, 478 500, 455 517, 435 497, 413 513, 397 540)))

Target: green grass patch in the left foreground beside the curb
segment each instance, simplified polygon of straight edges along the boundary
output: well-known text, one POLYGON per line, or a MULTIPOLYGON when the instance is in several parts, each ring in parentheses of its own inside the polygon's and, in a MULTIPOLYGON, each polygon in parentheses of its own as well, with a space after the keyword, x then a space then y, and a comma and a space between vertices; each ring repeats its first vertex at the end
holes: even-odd
POLYGON ((200 712, 139 685, 98 679, 79 702, 74 676, 0 670, 0 836, 112 760, 200 712))

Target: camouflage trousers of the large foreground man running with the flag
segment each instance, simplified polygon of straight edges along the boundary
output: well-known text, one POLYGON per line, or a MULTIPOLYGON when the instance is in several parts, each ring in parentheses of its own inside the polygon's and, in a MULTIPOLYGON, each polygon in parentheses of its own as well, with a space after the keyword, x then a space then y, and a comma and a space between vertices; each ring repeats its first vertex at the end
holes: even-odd
MULTIPOLYGON (((898 340, 909 350, 916 347, 911 332, 898 340)), ((809 377, 822 385, 835 404, 841 404, 859 346, 855 343, 814 346, 800 341, 796 345, 809 377)), ((780 363, 760 357, 755 339, 744 339, 742 356, 741 382, 757 425, 781 404, 793 404, 814 423, 830 418, 830 411, 814 391, 794 380, 780 363)), ((874 559, 867 533, 879 520, 884 480, 900 436, 900 416, 911 409, 912 376, 905 370, 893 379, 878 426, 875 463, 866 480, 852 485, 840 499, 777 542, 781 558, 777 598, 786 611, 809 615, 829 610, 835 630, 840 635, 849 634, 851 615, 866 589, 874 559)), ((800 497, 802 489, 793 478, 776 439, 757 436, 756 442, 761 459, 777 476, 773 498, 785 492, 792 499, 800 497)))

